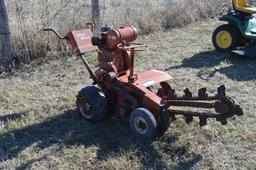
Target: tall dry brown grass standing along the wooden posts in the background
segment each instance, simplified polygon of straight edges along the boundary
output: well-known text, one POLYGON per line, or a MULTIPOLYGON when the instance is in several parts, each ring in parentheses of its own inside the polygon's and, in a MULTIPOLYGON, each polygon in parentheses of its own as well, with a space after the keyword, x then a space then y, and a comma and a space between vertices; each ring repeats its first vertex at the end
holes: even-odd
MULTIPOLYGON (((182 27, 194 21, 215 17, 223 0, 104 0, 101 24, 134 25, 141 33, 182 27)), ((83 28, 91 21, 90 0, 7 0, 12 38, 17 57, 24 63, 33 59, 57 58, 67 47, 52 34, 53 27, 65 34, 83 28)))

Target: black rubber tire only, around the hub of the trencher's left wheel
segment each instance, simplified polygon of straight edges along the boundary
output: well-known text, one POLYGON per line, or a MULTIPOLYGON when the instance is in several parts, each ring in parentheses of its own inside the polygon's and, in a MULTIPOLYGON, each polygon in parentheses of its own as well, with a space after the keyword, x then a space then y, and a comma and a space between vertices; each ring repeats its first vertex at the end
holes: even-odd
POLYGON ((78 113, 88 122, 98 123, 108 115, 108 101, 104 93, 95 86, 88 86, 82 89, 77 95, 78 113), (86 100, 92 107, 93 115, 86 118, 80 109, 81 100, 86 100))

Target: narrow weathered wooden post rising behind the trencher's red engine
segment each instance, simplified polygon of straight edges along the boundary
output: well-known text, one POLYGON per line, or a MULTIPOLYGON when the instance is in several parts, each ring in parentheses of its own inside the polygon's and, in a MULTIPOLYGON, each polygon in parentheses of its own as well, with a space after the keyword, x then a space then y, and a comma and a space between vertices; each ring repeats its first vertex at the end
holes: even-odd
POLYGON ((99 0, 91 0, 92 7, 92 22, 95 25, 96 30, 100 29, 100 4, 99 0))

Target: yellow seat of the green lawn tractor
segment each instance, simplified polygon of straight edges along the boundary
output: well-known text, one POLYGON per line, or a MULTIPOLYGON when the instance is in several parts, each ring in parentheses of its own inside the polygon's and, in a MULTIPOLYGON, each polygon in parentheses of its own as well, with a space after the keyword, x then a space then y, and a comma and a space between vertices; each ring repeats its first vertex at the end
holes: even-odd
POLYGON ((239 11, 246 14, 255 14, 256 7, 248 5, 246 0, 232 0, 235 11, 239 11))

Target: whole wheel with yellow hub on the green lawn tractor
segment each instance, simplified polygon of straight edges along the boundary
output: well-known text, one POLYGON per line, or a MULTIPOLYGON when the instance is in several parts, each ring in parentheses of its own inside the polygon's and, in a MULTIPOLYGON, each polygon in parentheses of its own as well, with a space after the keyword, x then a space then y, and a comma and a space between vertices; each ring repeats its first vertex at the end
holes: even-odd
POLYGON ((218 51, 230 51, 241 42, 240 32, 231 25, 219 26, 212 35, 212 42, 218 51))

